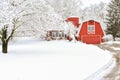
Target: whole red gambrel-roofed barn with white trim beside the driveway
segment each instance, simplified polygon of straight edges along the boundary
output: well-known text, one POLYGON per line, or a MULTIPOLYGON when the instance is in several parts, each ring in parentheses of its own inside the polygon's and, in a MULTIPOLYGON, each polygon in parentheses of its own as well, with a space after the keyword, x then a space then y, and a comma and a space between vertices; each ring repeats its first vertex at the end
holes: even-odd
POLYGON ((104 32, 99 22, 94 20, 82 24, 78 40, 87 44, 100 44, 103 41, 104 32))

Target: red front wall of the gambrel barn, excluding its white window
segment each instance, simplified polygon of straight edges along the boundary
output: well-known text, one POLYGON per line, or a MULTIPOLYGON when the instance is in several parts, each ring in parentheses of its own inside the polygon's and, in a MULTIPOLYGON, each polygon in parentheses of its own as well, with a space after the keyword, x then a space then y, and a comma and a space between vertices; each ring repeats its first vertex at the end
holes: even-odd
POLYGON ((80 33, 79 33, 79 36, 78 36, 78 40, 83 40, 83 36, 87 36, 86 38, 84 37, 85 42, 100 43, 102 41, 102 37, 104 36, 104 32, 101 28, 100 23, 99 22, 94 22, 94 21, 84 22, 82 24, 82 27, 81 27, 81 30, 80 30, 80 33), (95 34, 89 34, 88 33, 88 24, 89 25, 95 24, 95 34), (94 39, 96 39, 96 41, 94 39), (92 42, 92 40, 94 42, 92 42))

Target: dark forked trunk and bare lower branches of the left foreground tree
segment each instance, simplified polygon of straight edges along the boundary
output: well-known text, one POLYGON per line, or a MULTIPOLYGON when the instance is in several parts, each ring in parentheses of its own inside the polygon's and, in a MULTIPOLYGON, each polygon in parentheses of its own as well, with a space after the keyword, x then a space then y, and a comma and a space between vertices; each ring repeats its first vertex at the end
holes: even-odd
POLYGON ((1 35, 0 39, 2 41, 2 52, 3 53, 8 52, 8 42, 11 38, 13 38, 13 35, 14 35, 16 29, 18 28, 18 26, 16 26, 17 22, 18 22, 18 19, 14 18, 13 22, 12 22, 13 26, 11 28, 10 34, 8 34, 8 30, 9 30, 8 24, 4 25, 4 27, 2 27, 2 29, 0 31, 0 35, 1 35))

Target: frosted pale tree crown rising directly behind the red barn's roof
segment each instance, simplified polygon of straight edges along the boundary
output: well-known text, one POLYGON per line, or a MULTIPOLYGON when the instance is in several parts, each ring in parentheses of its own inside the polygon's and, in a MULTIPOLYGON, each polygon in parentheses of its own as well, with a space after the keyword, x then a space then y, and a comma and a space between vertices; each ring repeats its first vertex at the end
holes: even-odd
POLYGON ((106 29, 104 20, 106 15, 106 3, 100 2, 99 4, 93 4, 89 7, 83 9, 82 14, 80 15, 81 21, 86 20, 96 20, 99 21, 103 27, 106 29))

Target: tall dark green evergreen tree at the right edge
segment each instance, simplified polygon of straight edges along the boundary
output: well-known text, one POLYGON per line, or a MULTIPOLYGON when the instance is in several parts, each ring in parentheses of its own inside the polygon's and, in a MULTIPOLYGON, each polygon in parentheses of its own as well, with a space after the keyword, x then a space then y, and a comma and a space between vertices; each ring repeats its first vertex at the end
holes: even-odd
POLYGON ((112 0, 107 9, 107 34, 111 34, 113 39, 120 37, 120 0, 112 0))

